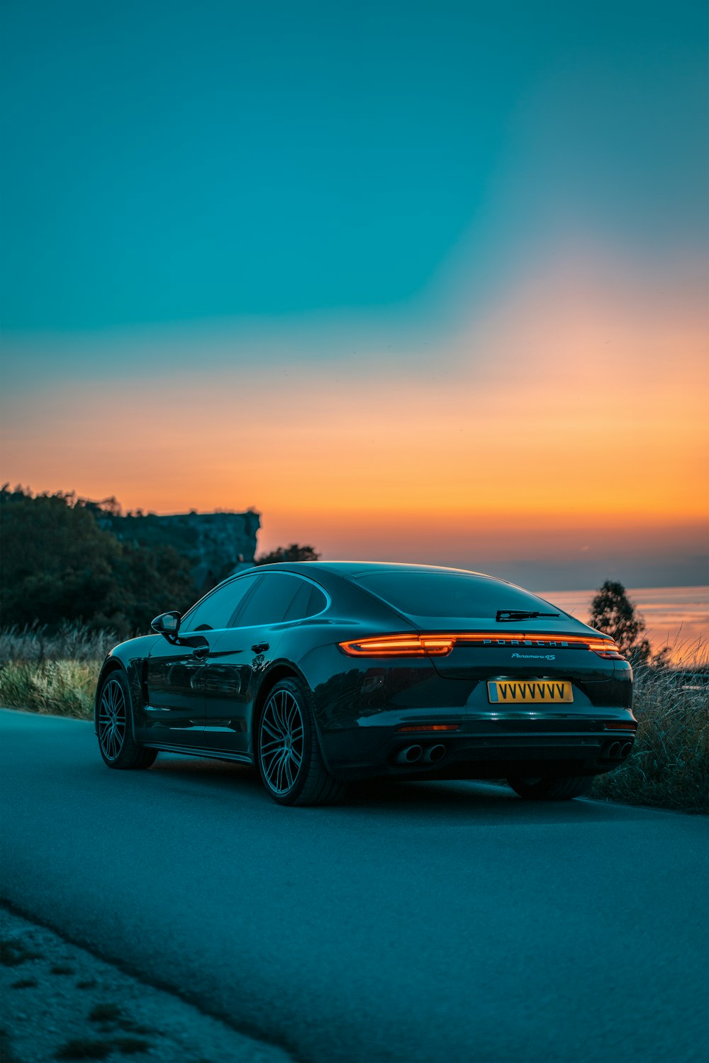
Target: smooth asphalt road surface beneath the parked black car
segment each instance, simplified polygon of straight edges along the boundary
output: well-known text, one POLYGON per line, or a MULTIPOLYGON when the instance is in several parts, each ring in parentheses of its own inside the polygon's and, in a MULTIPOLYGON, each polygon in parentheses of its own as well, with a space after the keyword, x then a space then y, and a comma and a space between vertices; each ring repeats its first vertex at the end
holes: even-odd
POLYGON ((0 711, 2 895, 307 1063, 709 1056, 707 821, 485 783, 284 809, 0 711))

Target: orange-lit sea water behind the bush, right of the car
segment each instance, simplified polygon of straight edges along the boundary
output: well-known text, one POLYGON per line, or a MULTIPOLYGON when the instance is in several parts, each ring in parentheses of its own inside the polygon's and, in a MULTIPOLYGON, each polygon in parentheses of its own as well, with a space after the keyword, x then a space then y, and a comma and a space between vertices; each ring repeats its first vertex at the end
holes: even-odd
MULTIPOLYGON (((589 622, 591 591, 538 591, 585 624, 589 622)), ((675 664, 686 668, 709 657, 709 587, 640 587, 626 594, 645 623, 644 636, 654 652, 670 647, 675 664)))

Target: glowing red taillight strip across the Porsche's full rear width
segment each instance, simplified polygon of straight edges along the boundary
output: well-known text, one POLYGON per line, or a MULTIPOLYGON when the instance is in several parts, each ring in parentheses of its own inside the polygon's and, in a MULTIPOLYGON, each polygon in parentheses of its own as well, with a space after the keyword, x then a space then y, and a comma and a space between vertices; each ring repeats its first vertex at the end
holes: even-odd
POLYGON ((501 638, 496 631, 457 631, 451 635, 378 635, 367 639, 340 642, 340 648, 351 657, 444 657, 455 645, 479 646, 489 649, 512 649, 516 646, 591 649, 609 660, 623 660, 612 639, 585 638, 583 635, 537 635, 506 631, 501 638))

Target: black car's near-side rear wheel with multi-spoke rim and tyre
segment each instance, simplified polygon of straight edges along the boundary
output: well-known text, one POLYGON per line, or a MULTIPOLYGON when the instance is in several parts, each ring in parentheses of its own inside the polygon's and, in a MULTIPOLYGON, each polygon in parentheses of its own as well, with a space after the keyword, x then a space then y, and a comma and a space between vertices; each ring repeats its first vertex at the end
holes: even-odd
POLYGON ((310 696, 298 679, 269 691, 255 752, 261 782, 278 805, 333 805, 344 796, 347 787, 325 767, 310 696))

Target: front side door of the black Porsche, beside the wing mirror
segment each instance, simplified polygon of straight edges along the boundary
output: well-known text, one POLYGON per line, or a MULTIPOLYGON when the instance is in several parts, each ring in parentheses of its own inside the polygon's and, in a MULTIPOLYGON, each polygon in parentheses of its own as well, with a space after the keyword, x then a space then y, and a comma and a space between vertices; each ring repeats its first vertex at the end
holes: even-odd
POLYGON ((158 639, 148 658, 147 741, 204 745, 205 669, 213 646, 259 577, 244 575, 205 595, 183 618, 178 638, 158 639))

